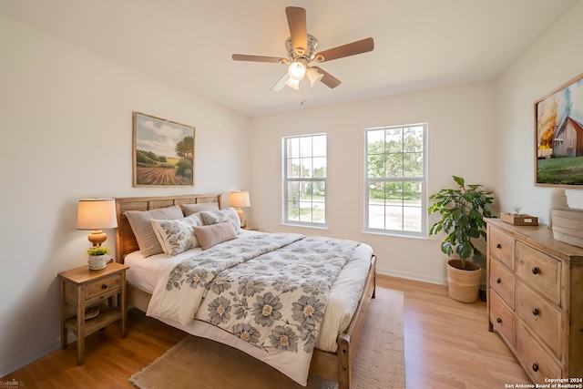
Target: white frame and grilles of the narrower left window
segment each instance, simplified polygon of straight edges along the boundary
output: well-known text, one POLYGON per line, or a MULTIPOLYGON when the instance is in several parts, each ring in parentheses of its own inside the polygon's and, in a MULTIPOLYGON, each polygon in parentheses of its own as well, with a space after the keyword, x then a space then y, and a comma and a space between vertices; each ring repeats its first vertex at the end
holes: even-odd
MULTIPOLYGON (((328 229, 329 228, 329 217, 328 217, 328 196, 327 196, 327 190, 328 190, 328 154, 329 154, 329 137, 328 134, 325 132, 320 132, 320 133, 313 133, 313 134, 301 134, 301 135, 290 135, 290 136, 284 136, 281 137, 281 184, 282 184, 282 189, 281 189, 281 224, 283 225, 287 225, 287 226, 295 226, 295 227, 306 227, 306 228, 313 228, 313 229, 328 229), (325 146, 325 177, 323 178, 316 178, 316 177, 311 177, 311 178, 289 178, 288 177, 288 139, 292 139, 292 138, 314 138, 314 137, 325 137, 325 141, 326 141, 326 146, 325 146), (324 222, 320 223, 320 222, 313 222, 313 221, 302 221, 302 220, 291 220, 290 219, 290 215, 289 215, 289 209, 288 209, 288 190, 289 190, 289 183, 291 182, 323 182, 323 187, 324 187, 324 199, 323 199, 323 205, 324 205, 324 222)), ((313 155, 311 155, 310 158, 321 158, 320 157, 314 157, 313 155)), ((298 158, 302 158, 302 157, 298 157, 298 158)), ((313 175, 313 170, 312 170, 312 175, 313 175)), ((313 211, 313 200, 312 200, 312 211, 313 211)))

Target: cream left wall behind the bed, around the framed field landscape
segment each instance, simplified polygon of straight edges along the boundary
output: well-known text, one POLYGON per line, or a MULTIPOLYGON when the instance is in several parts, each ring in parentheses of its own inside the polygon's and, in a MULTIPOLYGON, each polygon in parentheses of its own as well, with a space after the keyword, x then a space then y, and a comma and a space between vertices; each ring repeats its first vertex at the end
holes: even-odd
POLYGON ((249 118, 0 16, 0 376, 59 346, 56 273, 87 263, 78 199, 245 189, 249 129, 249 118), (194 189, 132 188, 132 110, 196 128, 194 189))

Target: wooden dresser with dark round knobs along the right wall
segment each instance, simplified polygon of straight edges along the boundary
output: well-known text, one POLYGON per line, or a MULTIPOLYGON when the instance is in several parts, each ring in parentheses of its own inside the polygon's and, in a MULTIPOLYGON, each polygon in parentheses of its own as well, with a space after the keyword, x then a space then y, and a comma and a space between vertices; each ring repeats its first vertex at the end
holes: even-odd
POLYGON ((583 377, 583 249, 487 219, 487 310, 534 383, 583 377))

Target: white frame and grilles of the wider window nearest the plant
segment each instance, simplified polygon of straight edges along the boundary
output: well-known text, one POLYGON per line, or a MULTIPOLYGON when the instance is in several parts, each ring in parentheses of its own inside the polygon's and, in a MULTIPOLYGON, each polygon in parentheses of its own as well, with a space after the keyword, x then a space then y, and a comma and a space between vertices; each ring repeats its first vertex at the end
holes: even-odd
MULTIPOLYGON (((364 128, 363 130, 363 232, 365 233, 374 233, 374 234, 382 234, 382 235, 395 235, 401 237, 410 237, 410 238, 426 238, 428 237, 428 215, 427 215, 427 207, 428 207, 428 194, 427 194, 427 160, 428 160, 428 123, 414 123, 414 124, 403 124, 403 125, 392 125, 392 126, 381 126, 381 127, 371 127, 371 128, 364 128), (368 177, 368 162, 369 162, 369 150, 368 150, 368 138, 369 133, 372 131, 378 130, 387 130, 392 128, 414 128, 414 127, 422 127, 423 128, 423 176, 422 177, 415 177, 415 178, 405 178, 405 177, 382 177, 382 178, 369 178, 368 177), (370 226, 370 193, 369 189, 373 182, 418 182, 420 184, 421 189, 421 230, 414 231, 414 230, 404 230, 402 227, 401 230, 391 230, 391 229, 379 229, 379 228, 371 228, 370 226)), ((386 196, 385 196, 386 200, 386 196)), ((404 210, 404 205, 401 206, 401 209, 404 210)), ((386 212, 384 212, 386 217, 386 212)), ((402 217, 404 217, 404 212, 402 212, 402 217)), ((404 225, 404 223, 403 223, 404 225)), ((386 224, 384 225, 386 227, 386 224)))

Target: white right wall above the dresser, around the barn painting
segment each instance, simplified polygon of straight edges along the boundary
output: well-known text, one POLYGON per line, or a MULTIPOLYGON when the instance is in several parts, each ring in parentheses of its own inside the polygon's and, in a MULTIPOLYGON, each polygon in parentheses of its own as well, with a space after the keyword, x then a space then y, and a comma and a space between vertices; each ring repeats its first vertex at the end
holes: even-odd
MULTIPOLYGON (((583 73, 583 1, 578 1, 496 81, 496 189, 500 210, 521 212, 549 223, 550 189, 535 186, 534 104, 583 73)), ((581 208, 583 191, 568 190, 581 208)))

